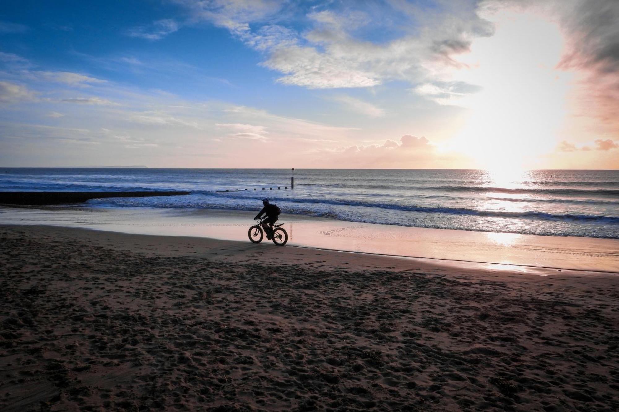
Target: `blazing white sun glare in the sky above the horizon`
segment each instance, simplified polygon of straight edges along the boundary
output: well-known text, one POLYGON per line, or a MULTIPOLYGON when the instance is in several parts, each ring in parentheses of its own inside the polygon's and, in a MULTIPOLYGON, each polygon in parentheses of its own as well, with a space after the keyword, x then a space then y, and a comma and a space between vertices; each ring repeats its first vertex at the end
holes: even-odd
POLYGON ((557 144, 569 76, 555 69, 563 49, 558 26, 529 14, 488 19, 496 33, 475 41, 459 74, 483 87, 463 100, 470 109, 454 146, 489 170, 535 168, 557 144))

